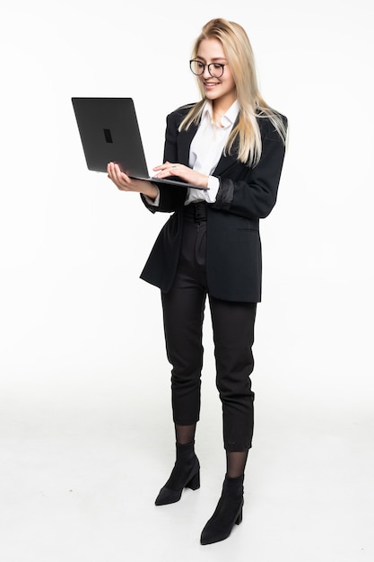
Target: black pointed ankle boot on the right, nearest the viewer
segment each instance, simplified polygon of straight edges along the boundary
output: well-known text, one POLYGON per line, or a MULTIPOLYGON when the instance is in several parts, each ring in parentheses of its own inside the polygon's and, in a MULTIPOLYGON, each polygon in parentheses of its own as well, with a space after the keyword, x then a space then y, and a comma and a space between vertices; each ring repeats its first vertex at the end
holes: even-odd
POLYGON ((236 479, 225 477, 222 496, 201 533, 201 544, 212 544, 227 539, 235 523, 237 525, 241 523, 244 504, 243 480, 244 476, 236 479))

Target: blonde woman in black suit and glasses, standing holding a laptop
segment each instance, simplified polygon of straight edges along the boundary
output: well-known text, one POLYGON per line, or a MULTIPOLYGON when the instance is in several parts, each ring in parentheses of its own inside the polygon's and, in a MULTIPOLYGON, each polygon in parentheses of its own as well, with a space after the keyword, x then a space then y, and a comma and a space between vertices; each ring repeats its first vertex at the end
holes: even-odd
POLYGON ((110 162, 118 189, 142 194, 152 212, 173 213, 141 277, 161 289, 176 462, 156 505, 200 486, 194 445, 200 411, 202 326, 208 296, 227 470, 201 544, 226 539, 242 520, 253 434, 250 374, 261 300, 259 219, 271 212, 283 167, 287 120, 262 99, 252 49, 239 24, 214 19, 196 39, 190 68, 202 99, 167 118, 164 163, 154 183, 131 180, 110 162), (157 185, 177 176, 196 189, 157 185))

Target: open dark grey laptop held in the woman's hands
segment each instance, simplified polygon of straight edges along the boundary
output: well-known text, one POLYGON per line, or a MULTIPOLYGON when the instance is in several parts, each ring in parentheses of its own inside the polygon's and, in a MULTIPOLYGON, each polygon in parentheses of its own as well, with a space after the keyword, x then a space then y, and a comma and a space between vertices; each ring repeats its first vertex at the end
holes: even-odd
POLYGON ((150 176, 132 98, 74 97, 72 102, 89 170, 106 172, 108 162, 117 162, 130 178, 204 189, 174 176, 150 176))

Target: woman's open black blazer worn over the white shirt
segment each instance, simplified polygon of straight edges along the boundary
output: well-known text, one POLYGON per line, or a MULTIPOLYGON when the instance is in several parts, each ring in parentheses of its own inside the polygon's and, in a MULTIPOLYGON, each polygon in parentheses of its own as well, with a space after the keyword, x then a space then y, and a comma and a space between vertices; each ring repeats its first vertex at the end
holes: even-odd
MULTIPOLYGON (((189 147, 197 127, 178 132, 191 106, 167 118, 164 162, 188 165, 189 147)), ((286 118, 283 118, 286 123, 286 118)), ((263 152, 257 166, 249 168, 235 154, 222 155, 213 172, 219 178, 216 201, 207 206, 206 278, 213 297, 249 303, 261 301, 261 241, 259 219, 273 209, 283 167, 284 145, 267 118, 258 118, 263 152)), ((173 213, 161 229, 141 278, 167 293, 178 266, 183 233, 183 207, 187 188, 159 184, 160 206, 152 211, 173 213)))

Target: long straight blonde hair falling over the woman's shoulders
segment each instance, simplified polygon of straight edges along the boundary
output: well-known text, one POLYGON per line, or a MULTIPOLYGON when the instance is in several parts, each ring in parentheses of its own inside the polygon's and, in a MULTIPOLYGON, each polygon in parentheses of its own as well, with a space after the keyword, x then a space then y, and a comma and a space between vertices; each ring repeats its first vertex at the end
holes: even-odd
MULTIPOLYGON (((234 143, 238 140, 238 160, 247 163, 248 166, 256 166, 262 153, 261 133, 257 118, 270 119, 284 144, 286 144, 287 137, 286 126, 280 114, 265 103, 258 91, 255 57, 248 35, 239 23, 228 22, 222 18, 205 23, 192 49, 192 58, 196 58, 200 43, 205 39, 221 41, 230 64, 239 102, 239 121, 230 133, 225 146, 225 154, 230 153, 234 143)), ((201 118, 206 97, 198 79, 197 84, 202 100, 188 111, 179 130, 186 130, 193 123, 197 124, 201 118)))

